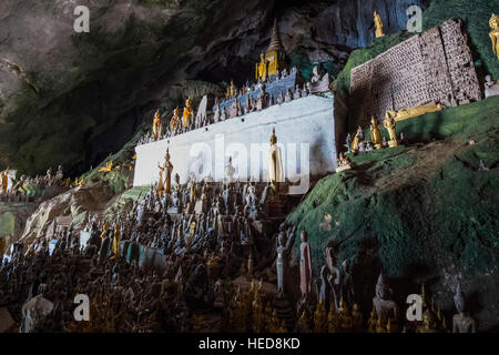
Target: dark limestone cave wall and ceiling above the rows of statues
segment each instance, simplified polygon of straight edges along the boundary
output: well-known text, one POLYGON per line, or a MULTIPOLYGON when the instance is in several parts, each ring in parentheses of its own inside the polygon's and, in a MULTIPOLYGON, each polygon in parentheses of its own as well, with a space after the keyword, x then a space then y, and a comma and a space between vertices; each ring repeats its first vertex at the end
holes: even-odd
POLYGON ((82 0, 90 33, 77 33, 74 1, 2 0, 0 166, 95 166, 149 128, 157 106, 170 118, 187 94, 196 105, 222 94, 222 80, 253 78, 274 17, 293 64, 335 73, 373 37, 375 9, 389 32, 405 27, 408 2, 82 0))

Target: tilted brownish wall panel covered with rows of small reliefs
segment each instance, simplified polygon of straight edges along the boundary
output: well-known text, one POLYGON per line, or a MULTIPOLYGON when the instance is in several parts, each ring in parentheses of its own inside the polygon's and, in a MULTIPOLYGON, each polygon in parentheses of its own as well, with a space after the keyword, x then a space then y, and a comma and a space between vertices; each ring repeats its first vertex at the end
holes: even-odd
POLYGON ((467 36, 460 20, 447 20, 352 70, 349 130, 367 125, 370 115, 383 120, 387 110, 479 100, 467 36))

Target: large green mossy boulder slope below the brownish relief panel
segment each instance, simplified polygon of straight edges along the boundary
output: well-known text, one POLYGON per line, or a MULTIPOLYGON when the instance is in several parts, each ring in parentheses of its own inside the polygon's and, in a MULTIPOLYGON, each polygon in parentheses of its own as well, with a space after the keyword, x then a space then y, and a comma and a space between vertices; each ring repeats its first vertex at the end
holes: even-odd
POLYGON ((480 327, 497 327, 499 98, 413 118, 397 130, 413 143, 429 142, 353 156, 356 168, 322 179, 287 221, 308 232, 316 275, 327 243, 339 243, 338 261, 356 265, 366 312, 383 270, 400 305, 426 283, 449 316, 459 281, 475 297, 480 327), (479 170, 480 159, 488 171, 479 170))

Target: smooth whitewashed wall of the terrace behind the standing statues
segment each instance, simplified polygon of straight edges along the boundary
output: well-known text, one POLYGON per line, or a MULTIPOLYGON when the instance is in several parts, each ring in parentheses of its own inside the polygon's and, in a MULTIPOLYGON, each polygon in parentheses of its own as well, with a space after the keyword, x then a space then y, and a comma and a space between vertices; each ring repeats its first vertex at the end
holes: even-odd
POLYGON ((285 178, 299 180, 306 173, 307 165, 310 175, 333 172, 337 156, 333 106, 333 97, 310 95, 138 145, 133 185, 157 182, 157 165, 163 163, 166 148, 174 166, 172 181, 174 174, 179 173, 181 182, 185 183, 191 172, 197 179, 210 175, 215 181, 223 181, 230 155, 233 156, 234 166, 238 166, 240 179, 259 175, 261 181, 266 181, 269 138, 274 128, 283 151, 285 178), (233 150, 246 153, 237 156, 233 150))

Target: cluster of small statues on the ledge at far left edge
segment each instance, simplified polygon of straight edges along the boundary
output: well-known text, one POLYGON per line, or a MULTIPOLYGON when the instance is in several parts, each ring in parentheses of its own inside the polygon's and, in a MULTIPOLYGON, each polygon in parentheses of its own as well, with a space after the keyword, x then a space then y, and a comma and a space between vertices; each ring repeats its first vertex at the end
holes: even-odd
POLYGON ((52 169, 49 169, 45 175, 34 178, 21 175, 19 180, 10 179, 9 169, 7 169, 0 173, 0 201, 31 202, 41 197, 47 189, 60 191, 70 186, 72 186, 71 181, 64 180, 61 165, 55 174, 52 173, 52 169))

